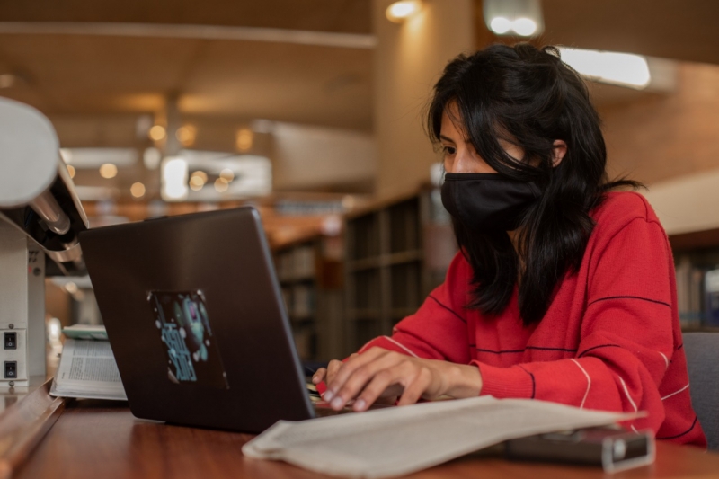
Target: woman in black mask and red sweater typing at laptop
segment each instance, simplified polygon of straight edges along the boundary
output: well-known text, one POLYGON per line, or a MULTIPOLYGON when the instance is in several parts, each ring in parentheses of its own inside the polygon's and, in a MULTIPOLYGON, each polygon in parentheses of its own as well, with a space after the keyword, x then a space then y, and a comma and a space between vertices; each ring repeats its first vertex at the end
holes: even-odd
POLYGON ((324 399, 356 411, 441 395, 646 411, 630 424, 706 446, 692 410, 670 246, 644 198, 607 182, 599 116, 554 48, 459 56, 431 139, 460 253, 416 314, 345 362, 324 399))

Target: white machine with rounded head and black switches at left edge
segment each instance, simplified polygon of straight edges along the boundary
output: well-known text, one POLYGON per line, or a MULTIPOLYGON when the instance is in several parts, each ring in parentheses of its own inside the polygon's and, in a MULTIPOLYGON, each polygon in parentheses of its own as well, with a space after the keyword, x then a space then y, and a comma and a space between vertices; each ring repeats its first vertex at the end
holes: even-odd
POLYGON ((0 387, 45 377, 45 276, 81 275, 87 217, 50 121, 0 98, 0 387))

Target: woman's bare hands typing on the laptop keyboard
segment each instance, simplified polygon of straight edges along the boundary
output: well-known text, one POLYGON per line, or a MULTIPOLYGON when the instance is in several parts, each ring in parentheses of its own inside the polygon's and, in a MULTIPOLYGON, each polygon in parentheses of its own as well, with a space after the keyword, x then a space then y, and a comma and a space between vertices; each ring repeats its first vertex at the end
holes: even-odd
POLYGON ((323 379, 327 385, 323 399, 335 410, 352 399, 352 408, 364 411, 377 399, 400 396, 398 404, 404 405, 441 395, 472 397, 482 389, 482 377, 475 366, 413 358, 377 347, 353 354, 343 363, 330 361, 326 370, 321 368, 312 377, 315 384, 323 379))

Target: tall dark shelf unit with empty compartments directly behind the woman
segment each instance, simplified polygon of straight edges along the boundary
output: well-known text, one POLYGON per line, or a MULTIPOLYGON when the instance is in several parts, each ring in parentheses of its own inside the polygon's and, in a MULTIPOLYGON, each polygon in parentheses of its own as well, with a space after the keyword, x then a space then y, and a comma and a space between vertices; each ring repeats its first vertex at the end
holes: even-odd
POLYGON ((457 252, 439 190, 379 203, 347 218, 345 354, 391 334, 444 280, 457 252))

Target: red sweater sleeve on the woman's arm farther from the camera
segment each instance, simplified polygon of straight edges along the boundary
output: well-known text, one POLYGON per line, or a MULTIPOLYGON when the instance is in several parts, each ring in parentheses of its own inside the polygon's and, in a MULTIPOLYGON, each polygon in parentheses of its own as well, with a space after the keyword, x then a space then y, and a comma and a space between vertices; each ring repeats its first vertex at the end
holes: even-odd
POLYGON ((444 283, 435 288, 413 315, 397 323, 392 337, 380 336, 359 352, 378 346, 424 359, 469 362, 466 298, 471 271, 461 253, 449 265, 444 283))

